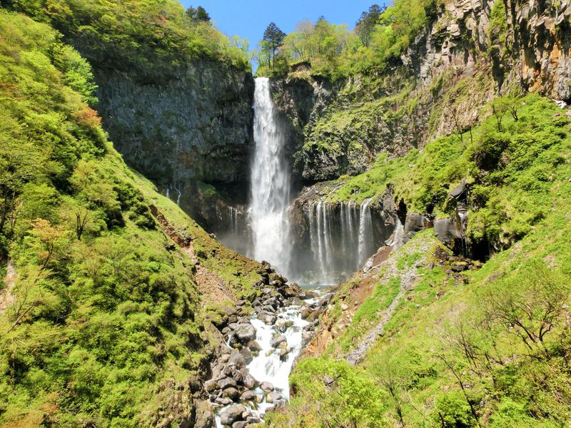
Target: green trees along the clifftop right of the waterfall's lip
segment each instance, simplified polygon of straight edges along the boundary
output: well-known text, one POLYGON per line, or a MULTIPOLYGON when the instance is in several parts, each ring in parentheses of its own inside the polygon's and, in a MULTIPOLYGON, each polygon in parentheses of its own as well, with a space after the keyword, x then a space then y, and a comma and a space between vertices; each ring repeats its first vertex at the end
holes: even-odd
POLYGON ((263 55, 257 56, 261 65, 258 74, 281 76, 299 62, 310 63, 314 76, 333 80, 383 71, 410 46, 435 11, 434 0, 395 0, 384 10, 373 5, 363 12, 354 31, 330 24, 323 17, 315 23, 301 21, 283 40, 273 64, 263 55))

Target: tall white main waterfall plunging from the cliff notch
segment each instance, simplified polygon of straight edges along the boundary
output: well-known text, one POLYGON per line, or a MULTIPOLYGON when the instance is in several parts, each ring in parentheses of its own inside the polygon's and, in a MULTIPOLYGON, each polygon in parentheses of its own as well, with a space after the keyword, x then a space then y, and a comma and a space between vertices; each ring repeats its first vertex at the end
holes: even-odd
POLYGON ((268 78, 256 78, 253 108, 256 149, 251 170, 252 256, 256 260, 268 260, 287 273, 290 170, 285 159, 285 137, 278 126, 268 78))

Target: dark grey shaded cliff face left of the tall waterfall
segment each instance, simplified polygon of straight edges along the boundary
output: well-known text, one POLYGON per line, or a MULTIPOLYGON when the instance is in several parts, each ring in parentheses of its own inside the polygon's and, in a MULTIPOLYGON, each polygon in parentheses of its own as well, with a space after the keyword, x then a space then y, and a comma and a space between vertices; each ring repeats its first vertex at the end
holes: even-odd
POLYGON ((218 61, 193 61, 148 82, 96 68, 98 111, 127 163, 162 188, 245 183, 253 140, 253 78, 218 61))

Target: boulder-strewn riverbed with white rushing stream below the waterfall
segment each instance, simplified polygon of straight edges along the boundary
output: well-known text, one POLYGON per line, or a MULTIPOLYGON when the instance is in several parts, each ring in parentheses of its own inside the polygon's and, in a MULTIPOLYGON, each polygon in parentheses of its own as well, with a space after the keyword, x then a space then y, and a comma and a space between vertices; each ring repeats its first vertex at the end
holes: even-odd
POLYGON ((216 324, 224 344, 204 383, 208 409, 198 415, 197 427, 243 428, 285 406, 289 374, 330 298, 289 284, 269 263, 258 273, 261 292, 228 308, 228 317, 216 324))

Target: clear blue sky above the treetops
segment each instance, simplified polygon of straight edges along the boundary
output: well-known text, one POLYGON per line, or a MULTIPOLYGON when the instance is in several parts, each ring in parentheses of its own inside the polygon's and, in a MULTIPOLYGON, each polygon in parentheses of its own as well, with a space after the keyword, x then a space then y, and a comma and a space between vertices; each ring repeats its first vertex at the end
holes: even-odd
POLYGON ((386 0, 182 0, 188 6, 203 6, 220 31, 240 36, 253 49, 272 21, 290 33, 303 19, 317 21, 325 16, 333 24, 348 24, 353 29, 361 12, 371 4, 383 6, 386 0))

